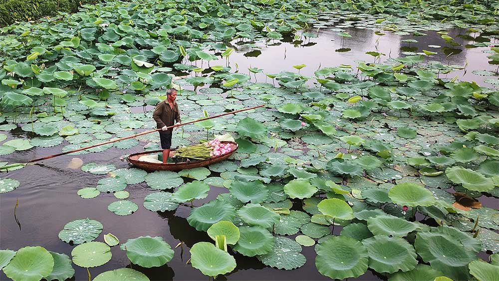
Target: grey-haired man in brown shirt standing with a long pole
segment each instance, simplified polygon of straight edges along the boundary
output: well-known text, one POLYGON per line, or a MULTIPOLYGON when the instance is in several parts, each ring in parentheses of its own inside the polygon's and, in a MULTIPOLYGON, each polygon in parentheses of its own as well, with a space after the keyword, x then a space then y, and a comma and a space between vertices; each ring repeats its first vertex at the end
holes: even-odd
MULTIPOLYGON (((166 90, 167 98, 164 101, 158 102, 156 104, 156 109, 153 113, 154 121, 156 121, 157 128, 161 129, 159 131, 159 137, 161 139, 161 148, 163 149, 163 163, 167 163, 168 157, 170 156, 170 148, 172 146, 172 133, 173 128, 167 129, 167 127, 175 124, 175 121, 180 123, 180 111, 179 106, 175 102, 177 98, 177 90, 170 88, 166 90)), ((177 129, 178 127, 175 127, 177 129)))

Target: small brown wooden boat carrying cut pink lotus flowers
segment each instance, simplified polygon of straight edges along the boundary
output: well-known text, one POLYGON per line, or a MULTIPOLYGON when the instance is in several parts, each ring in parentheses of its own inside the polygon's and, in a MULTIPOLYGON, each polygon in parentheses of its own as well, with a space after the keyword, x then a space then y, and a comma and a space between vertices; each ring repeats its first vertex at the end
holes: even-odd
MULTIPOLYGON (((226 160, 238 150, 238 144, 236 142, 222 141, 222 143, 231 144, 232 151, 206 160, 187 160, 185 158, 181 158, 181 161, 172 162, 172 163, 153 163, 153 162, 139 160, 142 156, 158 154, 161 153, 163 150, 143 151, 130 154, 127 157, 127 160, 128 162, 130 162, 130 164, 146 171, 180 171, 184 169, 205 167, 226 160)), ((175 160, 175 149, 172 149, 170 151, 170 158, 175 160)))

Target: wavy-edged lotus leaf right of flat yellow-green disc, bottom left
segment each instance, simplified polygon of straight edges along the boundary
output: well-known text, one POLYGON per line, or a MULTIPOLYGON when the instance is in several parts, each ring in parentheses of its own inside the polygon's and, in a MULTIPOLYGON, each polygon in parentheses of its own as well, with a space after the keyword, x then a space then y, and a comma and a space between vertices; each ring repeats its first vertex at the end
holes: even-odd
POLYGON ((143 268, 161 267, 173 258, 173 250, 161 237, 141 236, 121 244, 128 259, 143 268))

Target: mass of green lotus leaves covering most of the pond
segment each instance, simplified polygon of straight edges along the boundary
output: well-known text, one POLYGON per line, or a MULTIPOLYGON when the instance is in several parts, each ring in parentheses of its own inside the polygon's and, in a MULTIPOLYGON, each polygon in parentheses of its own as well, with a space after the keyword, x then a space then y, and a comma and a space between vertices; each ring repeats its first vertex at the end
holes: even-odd
MULTIPOLYGON (((381 53, 369 52, 374 63, 328 65, 313 76, 301 75, 305 66, 295 65, 296 72, 266 73, 272 83, 252 82, 231 66, 234 46, 228 40, 239 38, 257 50, 256 41, 292 37, 302 29, 301 36, 315 37, 308 28, 312 25, 334 25, 344 40, 351 35, 342 28, 351 26, 418 36, 425 35, 420 32, 424 29, 442 31, 453 25, 468 28, 468 33, 497 32, 490 8, 497 1, 457 9, 450 8, 452 3, 356 2, 204 1, 193 8, 180 1, 110 1, 85 5, 85 11, 64 19, 4 27, 0 130, 18 128, 30 138, 0 134, 0 155, 33 147, 70 151, 151 129, 150 112, 131 109, 155 105, 172 82, 184 88, 178 95, 183 120, 202 118, 203 110, 218 113, 265 103, 265 108, 175 132, 178 145, 210 133, 232 133, 239 149, 230 160, 178 173, 86 163, 83 172, 105 177, 78 195, 83 200, 114 193, 126 199, 127 185, 141 185, 151 188, 143 207, 164 212, 187 202, 194 205, 207 197, 210 186, 227 188, 215 200, 196 204, 187 218, 192 231, 207 232, 213 239, 191 248, 193 267, 208 276, 232 272, 237 267, 234 253, 293 270, 306 262, 300 244, 315 244, 316 268, 332 279, 356 278, 370 268, 390 280, 471 275, 487 280, 497 273, 498 254, 489 264, 479 261, 477 253, 499 252, 499 212, 470 207, 460 199, 462 194, 471 201, 499 196, 496 89, 445 78, 463 67, 431 61, 432 51, 408 51, 384 62, 381 53), (441 16, 448 19, 428 26, 441 16), (226 64, 210 66, 219 58, 226 64), (180 73, 189 75, 173 80, 180 73), (416 215, 428 219, 419 222, 416 215), (342 229, 334 232, 335 227, 342 229), (286 237, 296 234, 301 234, 296 242, 286 237)), ((447 32, 441 35, 442 44, 457 47, 447 32)), ((488 51, 492 64, 499 64, 499 49, 488 51)), ((497 84, 495 79, 486 82, 497 84)), ((143 135, 78 154, 111 147, 126 151, 139 144, 152 150, 157 142, 156 134, 143 135)), ((0 193, 20 184, 1 179, 0 193)), ((133 216, 138 208, 120 200, 108 210, 133 216)), ((81 244, 72 259, 88 268, 111 259, 111 245, 93 241, 101 232, 100 223, 77 220, 59 237, 81 244)), ((164 265, 173 257, 161 238, 121 244, 123 250, 128 246, 130 260, 144 267, 164 265), (144 254, 150 250, 157 253, 154 260, 144 254)), ((13 280, 25 279, 25 270, 34 279, 71 277, 69 258, 54 254, 41 247, 1 250, 0 268, 13 280), (21 268, 32 257, 41 262, 21 268)), ((131 269, 102 273, 96 280, 118 276, 147 280, 131 269)))

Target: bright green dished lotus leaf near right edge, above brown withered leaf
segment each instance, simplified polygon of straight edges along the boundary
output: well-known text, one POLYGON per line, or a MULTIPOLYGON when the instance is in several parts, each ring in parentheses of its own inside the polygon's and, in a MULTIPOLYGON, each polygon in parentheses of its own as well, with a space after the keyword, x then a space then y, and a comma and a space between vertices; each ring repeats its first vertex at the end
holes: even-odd
POLYGON ((454 166, 447 168, 445 174, 453 183, 462 184, 468 190, 484 192, 495 188, 491 179, 471 169, 454 166))

